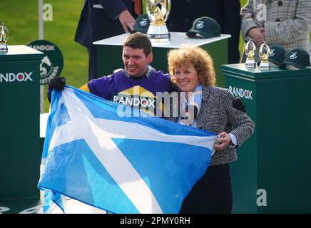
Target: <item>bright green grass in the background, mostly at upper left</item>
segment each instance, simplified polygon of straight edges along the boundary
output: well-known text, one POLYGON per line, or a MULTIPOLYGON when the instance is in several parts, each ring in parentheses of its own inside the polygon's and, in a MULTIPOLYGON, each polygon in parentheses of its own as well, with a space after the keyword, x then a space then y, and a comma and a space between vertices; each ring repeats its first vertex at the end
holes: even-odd
MULTIPOLYGON (((63 71, 69 85, 80 87, 88 81, 88 53, 73 41, 83 0, 49 0, 53 6, 53 21, 44 22, 44 39, 55 43, 63 53, 63 71)), ((241 0, 244 6, 247 0, 241 0)), ((25 44, 39 38, 37 0, 1 0, 0 21, 9 28, 9 45, 25 44)), ((240 36, 240 52, 244 41, 240 36)), ((46 86, 45 86, 46 90, 46 86)), ((49 102, 44 98, 44 111, 49 102)))

